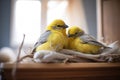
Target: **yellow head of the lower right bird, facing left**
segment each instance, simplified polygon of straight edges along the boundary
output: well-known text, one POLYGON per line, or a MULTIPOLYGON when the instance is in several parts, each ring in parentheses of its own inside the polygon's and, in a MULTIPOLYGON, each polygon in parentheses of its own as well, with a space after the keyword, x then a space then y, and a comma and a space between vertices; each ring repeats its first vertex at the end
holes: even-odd
POLYGON ((84 31, 77 26, 68 29, 68 37, 78 37, 84 34, 84 31))

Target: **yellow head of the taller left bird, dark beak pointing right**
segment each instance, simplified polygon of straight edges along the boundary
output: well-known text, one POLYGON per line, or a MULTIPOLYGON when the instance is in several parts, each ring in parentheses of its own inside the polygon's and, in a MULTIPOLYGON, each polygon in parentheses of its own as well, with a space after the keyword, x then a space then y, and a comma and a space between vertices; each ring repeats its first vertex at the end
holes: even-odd
POLYGON ((47 30, 55 30, 55 31, 65 31, 68 28, 68 25, 61 19, 54 20, 51 24, 47 26, 47 30))

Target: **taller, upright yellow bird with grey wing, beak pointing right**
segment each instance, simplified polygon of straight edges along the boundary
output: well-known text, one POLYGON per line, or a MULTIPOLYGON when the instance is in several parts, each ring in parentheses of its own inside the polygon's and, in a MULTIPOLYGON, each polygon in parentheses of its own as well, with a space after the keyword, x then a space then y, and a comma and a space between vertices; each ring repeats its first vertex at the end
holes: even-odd
POLYGON ((61 19, 54 20, 36 42, 33 51, 59 51, 67 46, 66 28, 68 26, 61 19))

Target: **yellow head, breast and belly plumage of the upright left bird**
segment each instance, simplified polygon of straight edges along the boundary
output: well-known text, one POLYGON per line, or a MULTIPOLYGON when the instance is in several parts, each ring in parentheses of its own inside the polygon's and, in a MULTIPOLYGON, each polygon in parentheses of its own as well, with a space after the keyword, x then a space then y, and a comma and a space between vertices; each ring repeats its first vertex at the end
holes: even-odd
POLYGON ((48 25, 46 30, 50 30, 51 33, 47 38, 47 42, 39 45, 36 48, 36 51, 39 50, 59 51, 63 48, 66 48, 68 42, 65 26, 66 24, 62 20, 55 20, 50 25, 48 25), (61 27, 57 27, 58 25, 60 25, 61 27))

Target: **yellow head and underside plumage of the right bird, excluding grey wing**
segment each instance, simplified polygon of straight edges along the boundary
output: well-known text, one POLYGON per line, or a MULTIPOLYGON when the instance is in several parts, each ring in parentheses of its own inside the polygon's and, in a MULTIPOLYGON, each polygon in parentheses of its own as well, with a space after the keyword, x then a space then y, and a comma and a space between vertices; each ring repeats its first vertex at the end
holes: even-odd
POLYGON ((80 39, 80 36, 75 36, 74 35, 76 32, 82 32, 82 30, 79 27, 76 27, 76 26, 71 27, 68 30, 68 35, 72 34, 72 37, 69 38, 69 49, 79 51, 79 52, 83 52, 83 53, 92 53, 92 54, 98 53, 101 46, 84 43, 80 39))

